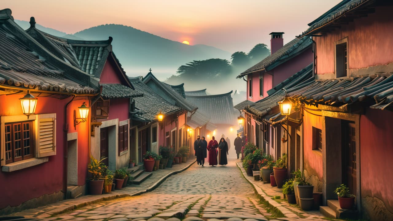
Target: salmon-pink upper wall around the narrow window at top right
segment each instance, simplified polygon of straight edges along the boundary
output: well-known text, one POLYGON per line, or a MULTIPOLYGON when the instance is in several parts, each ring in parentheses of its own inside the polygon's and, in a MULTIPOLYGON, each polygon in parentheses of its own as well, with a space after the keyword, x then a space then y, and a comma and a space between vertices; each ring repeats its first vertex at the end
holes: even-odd
POLYGON ((334 42, 348 37, 349 69, 364 68, 393 62, 392 6, 376 7, 375 13, 354 19, 322 37, 316 42, 317 74, 334 72, 334 42))

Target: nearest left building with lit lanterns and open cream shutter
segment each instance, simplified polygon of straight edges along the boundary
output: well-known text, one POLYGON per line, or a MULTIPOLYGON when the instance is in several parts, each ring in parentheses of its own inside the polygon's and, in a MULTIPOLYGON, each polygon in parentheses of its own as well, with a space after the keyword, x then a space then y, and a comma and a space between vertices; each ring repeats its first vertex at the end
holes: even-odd
POLYGON ((0 11, 0 23, 0 186, 7 199, 0 214, 9 214, 60 201, 68 185, 86 184, 90 114, 78 109, 90 107, 99 88, 20 28, 10 9, 0 11), (21 108, 26 94, 36 99, 30 114, 21 108))

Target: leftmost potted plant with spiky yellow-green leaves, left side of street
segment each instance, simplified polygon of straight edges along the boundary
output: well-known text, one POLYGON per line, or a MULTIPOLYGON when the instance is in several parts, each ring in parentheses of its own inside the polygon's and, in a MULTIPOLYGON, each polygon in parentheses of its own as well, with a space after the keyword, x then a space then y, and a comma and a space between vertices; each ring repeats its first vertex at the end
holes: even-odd
POLYGON ((89 192, 92 195, 102 194, 102 189, 104 186, 104 180, 102 179, 102 167, 105 164, 102 162, 106 158, 101 160, 96 160, 93 156, 90 157, 90 164, 87 164, 88 171, 91 173, 92 178, 89 182, 89 192))

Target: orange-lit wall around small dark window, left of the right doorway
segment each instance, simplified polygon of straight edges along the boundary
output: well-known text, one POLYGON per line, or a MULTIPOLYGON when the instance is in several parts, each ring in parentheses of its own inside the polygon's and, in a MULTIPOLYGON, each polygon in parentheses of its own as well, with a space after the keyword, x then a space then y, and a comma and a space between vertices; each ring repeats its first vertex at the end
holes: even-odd
POLYGON ((312 150, 312 127, 323 130, 322 117, 303 111, 303 158, 304 169, 309 175, 316 175, 319 180, 323 177, 322 153, 312 150))

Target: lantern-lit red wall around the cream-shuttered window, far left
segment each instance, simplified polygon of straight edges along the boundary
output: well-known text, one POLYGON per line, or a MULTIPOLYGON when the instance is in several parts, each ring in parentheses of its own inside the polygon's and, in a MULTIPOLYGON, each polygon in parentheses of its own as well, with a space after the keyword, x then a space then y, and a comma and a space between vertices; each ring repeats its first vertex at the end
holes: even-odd
MULTIPOLYGON (((17 116, 23 115, 20 107, 19 98, 24 94, 0 96, 0 116, 17 116), (5 105, 6 104, 6 105, 5 105)), ((34 94, 35 95, 35 94, 34 94)), ((0 200, 0 208, 6 206, 18 206, 20 203, 40 197, 44 194, 59 192, 63 187, 63 169, 64 169, 64 106, 69 99, 55 99, 39 97, 37 102, 37 114, 56 113, 56 155, 50 156, 49 161, 37 166, 20 169, 13 172, 0 171, 0 186, 7 191, 3 192, 0 200)), ((72 115, 73 109, 81 105, 85 100, 73 101, 69 108, 69 133, 75 132, 73 129, 72 115)), ((88 103, 88 102, 86 102, 88 103)), ((26 118, 27 120, 27 118, 26 118)), ((79 148, 79 167, 78 175, 81 185, 86 180, 86 164, 88 159, 88 125, 81 123, 77 125, 78 130, 78 148, 79 148), (86 132, 87 133, 83 133, 86 132)), ((3 156, 2 156, 3 157, 3 156)))

